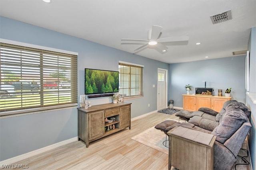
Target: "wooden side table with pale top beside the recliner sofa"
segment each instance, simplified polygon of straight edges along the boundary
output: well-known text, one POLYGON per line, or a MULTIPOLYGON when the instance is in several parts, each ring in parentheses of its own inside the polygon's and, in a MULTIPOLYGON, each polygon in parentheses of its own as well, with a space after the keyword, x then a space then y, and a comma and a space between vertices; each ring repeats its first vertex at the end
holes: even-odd
POLYGON ((213 170, 216 136, 185 127, 175 127, 168 135, 169 170, 213 170))

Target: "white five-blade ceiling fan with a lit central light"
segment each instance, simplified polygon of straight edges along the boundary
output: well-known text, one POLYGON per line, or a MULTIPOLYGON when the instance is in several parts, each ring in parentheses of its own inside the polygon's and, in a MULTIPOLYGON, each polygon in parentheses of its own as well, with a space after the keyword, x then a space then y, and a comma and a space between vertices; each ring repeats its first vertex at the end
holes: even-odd
MULTIPOLYGON (((163 43, 176 42, 176 41, 188 41, 188 36, 181 37, 167 37, 160 38, 163 27, 158 25, 153 25, 152 29, 148 30, 148 40, 145 39, 121 39, 121 41, 138 41, 138 42, 146 42, 141 45, 134 51, 139 51, 146 49, 148 47, 156 49, 156 51, 164 54, 167 52, 168 47, 166 47, 163 43)), ((140 44, 140 43, 122 43, 122 44, 140 44)))

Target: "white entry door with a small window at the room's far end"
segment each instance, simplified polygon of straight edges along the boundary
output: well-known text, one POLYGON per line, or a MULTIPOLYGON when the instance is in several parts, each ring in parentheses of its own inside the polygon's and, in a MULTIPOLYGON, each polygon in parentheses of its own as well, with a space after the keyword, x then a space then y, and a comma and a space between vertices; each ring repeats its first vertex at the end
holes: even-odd
POLYGON ((158 68, 157 109, 167 108, 167 70, 158 68))

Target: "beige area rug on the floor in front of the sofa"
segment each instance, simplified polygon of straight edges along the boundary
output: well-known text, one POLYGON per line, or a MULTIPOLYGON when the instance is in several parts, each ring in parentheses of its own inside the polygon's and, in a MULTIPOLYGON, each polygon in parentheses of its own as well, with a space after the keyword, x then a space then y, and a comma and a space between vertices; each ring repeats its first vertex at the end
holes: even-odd
MULTIPOLYGON (((132 137, 131 139, 168 154, 168 148, 163 145, 163 141, 166 140, 166 135, 164 132, 155 129, 154 127, 151 127, 150 129, 132 137)), ((167 146, 168 145, 169 143, 167 141, 167 146)))

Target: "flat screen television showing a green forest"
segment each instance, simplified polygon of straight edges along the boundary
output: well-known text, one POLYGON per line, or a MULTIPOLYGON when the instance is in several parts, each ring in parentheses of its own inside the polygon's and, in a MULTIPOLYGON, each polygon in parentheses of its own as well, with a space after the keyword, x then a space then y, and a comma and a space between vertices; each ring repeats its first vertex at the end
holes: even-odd
POLYGON ((85 94, 118 92, 119 72, 85 68, 85 94))

